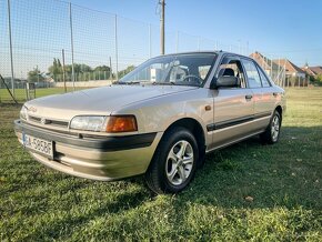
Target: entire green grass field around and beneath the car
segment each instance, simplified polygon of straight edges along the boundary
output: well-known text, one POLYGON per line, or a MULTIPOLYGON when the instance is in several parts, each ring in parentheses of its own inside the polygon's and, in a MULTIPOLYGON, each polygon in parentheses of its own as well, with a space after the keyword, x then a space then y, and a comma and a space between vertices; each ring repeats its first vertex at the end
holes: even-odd
POLYGON ((288 90, 281 140, 208 155, 192 184, 153 195, 142 178, 93 182, 48 170, 0 105, 1 241, 322 241, 322 88, 288 90), (248 198, 249 196, 249 198, 248 198))

